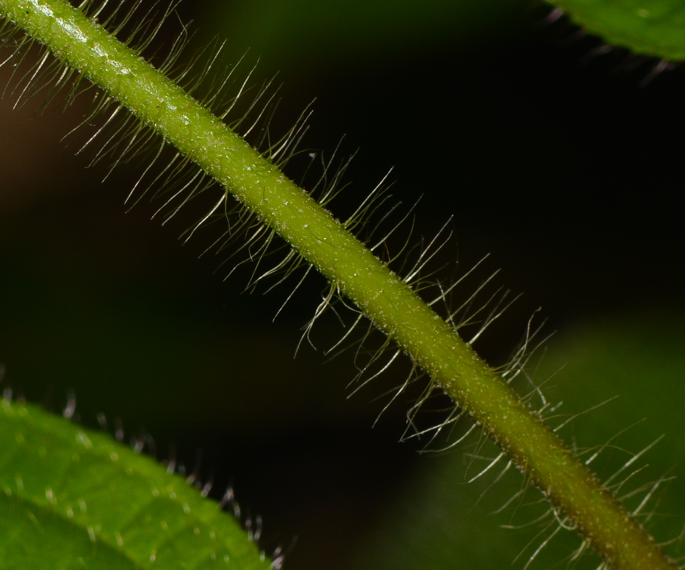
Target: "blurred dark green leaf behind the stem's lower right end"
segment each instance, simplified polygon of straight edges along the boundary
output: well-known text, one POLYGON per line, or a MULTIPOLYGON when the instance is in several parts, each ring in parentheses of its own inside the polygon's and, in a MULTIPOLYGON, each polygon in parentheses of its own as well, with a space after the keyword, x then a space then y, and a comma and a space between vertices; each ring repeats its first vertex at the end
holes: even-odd
MULTIPOLYGON (((536 384, 544 382, 551 405, 563 402, 550 421, 552 427, 587 410, 560 434, 577 451, 586 452, 583 458, 601 447, 601 454, 591 464, 601 480, 663 435, 614 482, 635 472, 617 493, 619 497, 630 495, 643 487, 642 492, 625 500, 629 510, 634 510, 653 484, 662 480, 640 510, 638 520, 666 541, 682 533, 682 519, 677 513, 685 509, 685 485, 678 479, 669 480, 680 471, 685 458, 684 343, 682 314, 645 312, 596 318, 561 332, 548 343, 547 350, 538 356, 533 377, 536 384), (595 408, 603 402, 606 404, 595 408)), ((539 504, 540 510, 535 510, 539 493, 529 490, 525 498, 517 498, 502 512, 494 513, 521 489, 523 478, 516 469, 510 469, 478 500, 506 461, 493 467, 488 478, 466 484, 465 469, 468 467, 467 475, 478 469, 469 467, 473 449, 464 451, 466 454, 449 451, 424 457, 360 550, 353 569, 508 568, 519 553, 516 566, 525 565, 556 528, 552 525, 542 532, 550 517, 535 522, 543 512, 539 504)), ((478 454, 494 457, 497 451, 488 443, 478 454)), ((580 538, 575 533, 558 532, 530 568, 565 565, 578 545, 580 538)), ((671 556, 679 556, 680 541, 665 549, 671 556)), ((575 567, 595 569, 600 563, 595 554, 588 553, 575 567)))

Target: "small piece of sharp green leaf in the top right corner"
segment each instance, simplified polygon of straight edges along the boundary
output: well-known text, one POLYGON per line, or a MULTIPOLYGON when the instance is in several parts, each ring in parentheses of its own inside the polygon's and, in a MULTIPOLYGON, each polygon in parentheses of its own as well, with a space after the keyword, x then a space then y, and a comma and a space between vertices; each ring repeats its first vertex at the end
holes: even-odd
POLYGON ((672 62, 685 60, 681 0, 555 0, 572 21, 609 45, 672 62))

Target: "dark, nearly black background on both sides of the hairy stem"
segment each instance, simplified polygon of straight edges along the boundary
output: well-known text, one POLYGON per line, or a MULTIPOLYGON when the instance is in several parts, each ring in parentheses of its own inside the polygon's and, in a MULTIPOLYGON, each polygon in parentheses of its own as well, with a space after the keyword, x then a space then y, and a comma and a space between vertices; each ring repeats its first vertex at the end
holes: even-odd
MULTIPOLYGON (((627 315, 635 330, 670 331, 681 358, 672 339, 683 336, 673 317, 682 314, 682 69, 641 86, 656 60, 620 49, 595 57, 600 40, 563 19, 545 25, 543 5, 419 4, 179 10, 197 19, 199 45, 228 36, 229 60, 251 47, 246 71, 261 55, 256 82, 280 70, 275 128, 316 97, 306 145, 331 151, 345 134, 343 153, 360 149, 338 208, 394 166, 393 195, 407 204, 423 195, 417 237, 453 214, 459 267, 491 253, 482 277, 501 268, 499 282, 524 295, 482 341, 490 362, 506 358, 538 306, 562 338, 627 315)), ((73 390, 83 423, 95 426, 102 411, 111 430, 119 417, 127 438, 145 430, 160 459, 175 453, 189 469, 201 449, 203 480, 213 477, 218 495, 233 484, 243 508, 264 517, 266 549, 299 536, 288 567, 353 565, 431 464, 397 443, 406 402, 371 430, 382 386, 345 399, 351 359, 321 354, 339 334, 332 321, 313 336, 319 351, 305 346, 292 360, 323 281, 312 278, 272 324, 290 289, 241 294, 245 276, 223 282, 220 258, 198 259, 206 244, 179 243, 188 220, 160 227, 147 203, 126 212, 135 169, 100 184, 104 166, 74 156, 78 134, 60 141, 83 105, 34 116, 39 101, 12 110, 14 99, 0 101, 4 385, 52 410, 73 390)), ((669 378, 677 406, 682 375, 669 378)), ((625 405, 639 408, 630 391, 625 405)))

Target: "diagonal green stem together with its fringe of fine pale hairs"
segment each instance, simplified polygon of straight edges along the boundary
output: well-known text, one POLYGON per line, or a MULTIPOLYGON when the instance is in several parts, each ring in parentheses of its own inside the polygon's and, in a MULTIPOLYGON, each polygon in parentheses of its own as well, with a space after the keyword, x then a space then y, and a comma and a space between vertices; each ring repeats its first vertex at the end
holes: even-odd
MULTIPOLYGON (((218 247, 223 248, 238 239, 244 240, 239 245, 240 249, 247 251, 248 257, 256 260, 258 267, 269 247, 277 243, 277 236, 284 238, 290 247, 280 247, 282 258, 270 269, 255 270, 253 282, 273 275, 288 277, 301 268, 304 268, 305 275, 310 269, 322 273, 329 286, 310 327, 329 308, 346 306, 358 315, 350 331, 369 321, 385 335, 386 340, 380 349, 362 367, 363 382, 372 380, 402 355, 408 356, 412 367, 397 395, 403 393, 417 375, 428 375, 430 380, 424 396, 419 398, 414 409, 418 409, 434 391, 444 391, 456 403, 448 419, 434 427, 434 432, 440 432, 464 414, 469 414, 475 421, 471 430, 482 427, 483 433, 501 447, 501 453, 479 475, 502 460, 508 461, 505 469, 515 466, 523 471, 526 481, 536 484, 549 500, 550 512, 559 524, 554 532, 561 528, 577 529, 584 537, 582 549, 588 545, 594 547, 607 564, 621 569, 673 567, 673 562, 660 552, 651 537, 614 500, 607 486, 613 479, 599 482, 586 467, 588 462, 583 464, 545 425, 544 414, 551 408, 544 398, 543 404, 536 408, 531 405, 530 398, 521 399, 512 388, 530 355, 535 331, 530 330, 508 366, 491 369, 475 354, 471 344, 499 317, 503 307, 495 304, 494 308, 488 309, 489 314, 482 326, 468 342, 464 342, 456 330, 468 323, 474 314, 469 313, 468 302, 457 308, 449 304, 449 295, 460 281, 438 281, 434 286, 434 297, 425 300, 419 297, 419 290, 427 283, 422 271, 439 249, 440 240, 444 239, 440 234, 421 248, 409 268, 391 269, 397 253, 390 253, 389 240, 397 225, 389 230, 379 230, 382 225, 369 227, 370 215, 382 203, 378 201, 382 197, 382 185, 345 221, 336 220, 324 206, 336 193, 337 176, 333 183, 322 186, 321 196, 315 201, 278 168, 292 157, 301 134, 301 122, 276 141, 269 138, 268 129, 262 131, 263 136, 256 145, 260 150, 257 151, 244 140, 258 125, 258 121, 245 123, 251 108, 228 126, 223 123, 227 117, 230 120, 240 92, 226 102, 216 117, 207 107, 220 106, 223 83, 203 105, 177 85, 184 82, 187 70, 177 74, 175 82, 167 77, 176 71, 175 64, 184 47, 183 36, 172 47, 159 70, 154 69, 140 53, 149 45, 161 23, 151 24, 144 19, 132 31, 127 30, 128 37, 122 43, 114 36, 125 30, 129 18, 117 19, 117 12, 123 9, 120 5, 101 26, 96 19, 103 8, 95 8, 86 15, 59 0, 0 3, 0 10, 8 21, 5 35, 8 41, 17 42, 19 57, 24 53, 22 49, 34 40, 45 46, 38 62, 27 73, 27 84, 20 97, 29 95, 35 88, 42 88, 49 78, 60 87, 76 71, 80 73, 79 77, 86 77, 99 86, 103 92, 95 99, 94 114, 104 112, 107 119, 95 136, 108 132, 107 128, 112 127, 112 132, 106 135, 107 143, 120 145, 119 151, 123 156, 140 147, 149 148, 153 136, 162 138, 153 150, 152 160, 139 184, 132 190, 132 199, 155 182, 180 179, 182 184, 176 188, 163 185, 167 195, 160 210, 169 219, 190 199, 214 191, 216 200, 189 230, 188 238, 206 223, 228 221, 227 229, 217 241, 218 247), (105 31, 105 27, 111 27, 112 34, 105 31), (126 46, 139 40, 139 34, 147 32, 147 27, 151 28, 151 33, 142 34, 144 39, 135 50, 126 46), (21 35, 19 30, 26 35, 21 35), (19 34, 16 36, 18 39, 15 34, 19 34), (51 60, 52 53, 58 60, 51 60), (62 67, 60 61, 66 66, 62 67), (122 123, 116 123, 126 110, 132 115, 127 115, 122 123), (238 136, 236 131, 242 136, 238 136), (122 138, 123 135, 127 138, 122 138), (155 172, 153 165, 167 144, 173 145, 177 153, 155 172), (199 169, 188 174, 185 169, 189 164, 195 164, 199 169), (145 178, 147 175, 151 181, 145 178), (216 192, 214 181, 222 186, 219 192, 216 192), (234 206, 232 196, 238 199, 240 206, 234 206), (382 259, 375 256, 376 252, 383 256, 382 259), (443 303, 445 314, 434 312, 433 307, 443 303), (466 313, 462 314, 464 309, 466 313), (373 365, 377 365, 377 369, 373 365), (366 377, 363 376, 365 372, 368 372, 366 377)), ((199 78, 188 86, 191 94, 210 70, 211 65, 206 66, 199 73, 199 78)), ((105 144, 98 156, 110 151, 112 147, 105 144)), ((539 395, 537 388, 532 395, 539 395)), ((558 425, 555 429, 560 427, 558 425)), ((21 445, 20 440, 26 438, 19 435, 21 438, 17 436, 16 440, 21 445)), ((77 435, 77 439, 79 437, 90 441, 87 435, 77 435)), ((80 443, 90 449, 88 444, 80 443)), ((112 453, 116 454, 116 451, 110 451, 110 455, 112 453)), ((630 462, 627 467, 630 467, 630 462)), ((21 484, 19 480, 15 481, 18 491, 25 488, 23 479, 20 480, 21 484)), ((155 489, 159 492, 156 486, 155 489)), ((47 504, 54 505, 53 499, 59 500, 53 491, 45 491, 45 497, 47 504)), ((66 512, 66 517, 69 517, 69 512, 66 512)), ((160 526, 164 528, 162 523, 160 526)), ((95 536, 100 530, 92 528, 89 535, 95 536)), ((105 540, 118 543, 116 532, 119 531, 103 530, 103 534, 107 534, 105 540)), ((147 556, 145 560, 149 562, 157 559, 157 554, 147 552, 138 556, 147 556)), ((136 561, 140 560, 136 558, 136 561)))

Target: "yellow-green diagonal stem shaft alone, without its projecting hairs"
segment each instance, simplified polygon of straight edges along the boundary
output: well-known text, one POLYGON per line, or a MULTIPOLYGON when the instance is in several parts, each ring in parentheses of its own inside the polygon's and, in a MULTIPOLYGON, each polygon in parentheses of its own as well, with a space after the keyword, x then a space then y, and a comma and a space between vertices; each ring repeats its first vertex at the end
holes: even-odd
POLYGON ((0 13, 160 132, 288 240, 485 427, 612 566, 675 568, 438 314, 206 108, 63 0, 0 0, 0 13))

